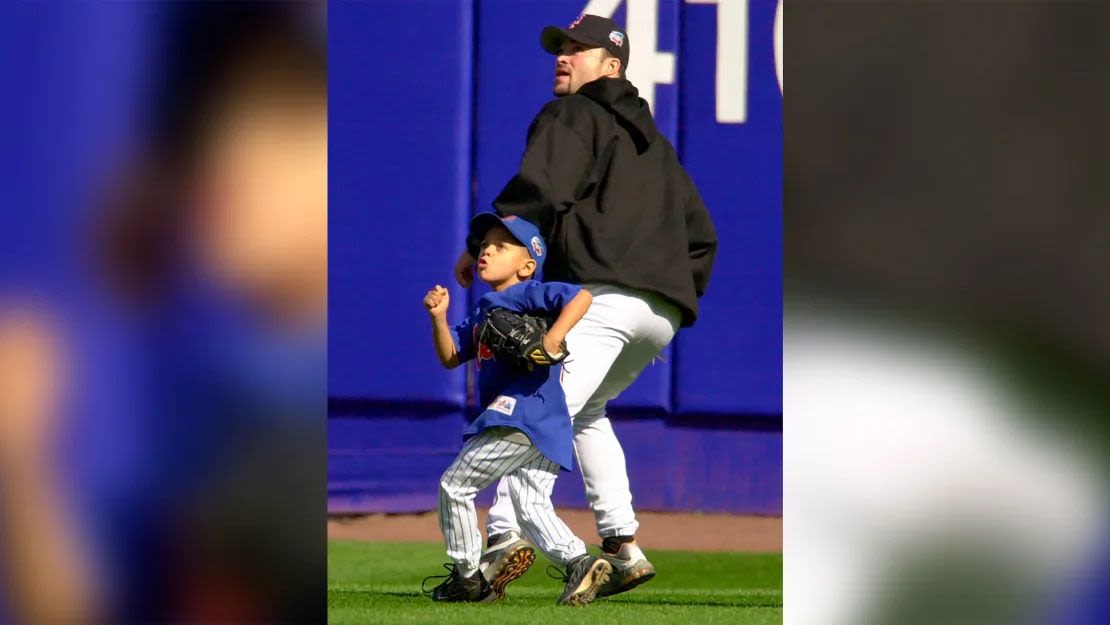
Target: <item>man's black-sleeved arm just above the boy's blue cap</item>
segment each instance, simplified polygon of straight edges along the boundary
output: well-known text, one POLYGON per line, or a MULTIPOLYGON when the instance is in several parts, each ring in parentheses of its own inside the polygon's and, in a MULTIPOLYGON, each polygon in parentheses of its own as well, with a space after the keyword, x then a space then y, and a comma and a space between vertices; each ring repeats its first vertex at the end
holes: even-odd
POLYGON ((544 238, 554 230, 555 214, 574 204, 574 193, 594 164, 587 143, 559 120, 557 104, 536 115, 519 170, 493 201, 498 214, 531 221, 544 238))

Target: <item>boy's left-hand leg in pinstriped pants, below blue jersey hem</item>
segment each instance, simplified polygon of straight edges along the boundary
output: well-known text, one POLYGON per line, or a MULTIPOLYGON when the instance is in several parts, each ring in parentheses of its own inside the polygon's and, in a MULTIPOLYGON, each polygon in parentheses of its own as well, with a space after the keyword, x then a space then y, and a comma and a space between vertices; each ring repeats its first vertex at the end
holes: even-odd
POLYGON ((504 440, 504 432, 491 429, 478 433, 440 478, 440 530, 451 557, 463 577, 478 569, 482 533, 478 530, 474 497, 494 480, 535 460, 539 452, 532 445, 504 440))

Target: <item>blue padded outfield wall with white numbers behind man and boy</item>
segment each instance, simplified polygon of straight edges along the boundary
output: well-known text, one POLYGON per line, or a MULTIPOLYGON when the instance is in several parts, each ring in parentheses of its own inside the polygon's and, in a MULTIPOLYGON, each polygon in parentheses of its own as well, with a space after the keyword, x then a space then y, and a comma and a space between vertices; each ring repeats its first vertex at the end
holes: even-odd
MULTIPOLYGON (((781 514, 778 7, 331 6, 331 512, 434 508, 436 480, 462 445, 473 382, 438 366, 421 299, 434 284, 447 286, 457 321, 481 293, 451 275, 466 221, 488 210, 512 177, 527 125, 552 97, 554 58, 539 50, 539 30, 586 9, 627 24, 629 79, 678 150, 720 240, 697 325, 614 402, 634 503, 781 514)), ((574 473, 556 483, 557 505, 585 507, 574 473)))

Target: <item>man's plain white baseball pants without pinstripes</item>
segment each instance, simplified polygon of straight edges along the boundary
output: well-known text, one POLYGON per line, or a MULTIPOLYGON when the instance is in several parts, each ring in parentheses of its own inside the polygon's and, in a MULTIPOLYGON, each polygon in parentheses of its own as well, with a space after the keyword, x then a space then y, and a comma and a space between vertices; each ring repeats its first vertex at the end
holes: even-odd
MULTIPOLYGON (((635 382, 674 337, 682 313, 666 299, 609 285, 583 285, 594 302, 566 336, 563 391, 574 419, 574 451, 599 536, 632 536, 639 527, 624 450, 605 406, 635 382)), ((516 530, 508 484, 497 484, 486 531, 516 530)))

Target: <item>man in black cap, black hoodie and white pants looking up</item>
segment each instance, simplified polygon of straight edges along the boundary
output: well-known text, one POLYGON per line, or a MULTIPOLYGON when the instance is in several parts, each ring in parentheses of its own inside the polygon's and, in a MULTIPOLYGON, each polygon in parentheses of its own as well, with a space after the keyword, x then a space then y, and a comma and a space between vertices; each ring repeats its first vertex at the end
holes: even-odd
MULTIPOLYGON (((541 46, 556 58, 557 98, 533 120, 519 171, 493 204, 500 214, 539 228, 549 253, 544 280, 581 284, 594 295, 586 316, 566 336, 563 386, 603 556, 613 565, 598 592, 606 596, 655 575, 635 543, 638 524, 624 451, 606 404, 659 355, 678 327, 694 324, 717 236, 674 148, 625 79, 625 29, 584 14, 566 29, 544 29, 541 46)), ((460 255, 455 274, 463 286, 471 284, 475 261, 467 252, 460 255)), ((505 567, 512 579, 524 575, 527 566, 521 563, 531 558, 522 554, 532 546, 502 484, 486 530, 486 577, 505 567)))

